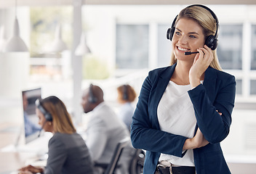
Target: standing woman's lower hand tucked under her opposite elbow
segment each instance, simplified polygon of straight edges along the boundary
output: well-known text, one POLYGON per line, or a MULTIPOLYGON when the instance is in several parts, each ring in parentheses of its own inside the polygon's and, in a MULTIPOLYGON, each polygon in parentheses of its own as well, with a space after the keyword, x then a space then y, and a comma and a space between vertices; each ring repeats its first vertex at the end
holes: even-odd
POLYGON ((186 139, 185 144, 183 145, 183 150, 196 149, 206 146, 207 144, 209 144, 209 142, 204 138, 203 133, 201 133, 201 130, 198 128, 196 135, 193 138, 186 139))

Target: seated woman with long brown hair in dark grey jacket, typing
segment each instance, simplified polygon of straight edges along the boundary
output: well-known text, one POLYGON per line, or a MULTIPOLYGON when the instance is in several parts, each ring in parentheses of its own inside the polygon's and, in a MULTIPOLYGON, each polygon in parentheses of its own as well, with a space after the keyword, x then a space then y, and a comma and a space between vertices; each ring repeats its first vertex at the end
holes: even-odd
POLYGON ((76 133, 71 116, 63 101, 49 96, 36 101, 39 125, 53 136, 49 140, 47 166, 31 165, 20 169, 20 173, 87 173, 92 174, 92 159, 84 139, 76 133))

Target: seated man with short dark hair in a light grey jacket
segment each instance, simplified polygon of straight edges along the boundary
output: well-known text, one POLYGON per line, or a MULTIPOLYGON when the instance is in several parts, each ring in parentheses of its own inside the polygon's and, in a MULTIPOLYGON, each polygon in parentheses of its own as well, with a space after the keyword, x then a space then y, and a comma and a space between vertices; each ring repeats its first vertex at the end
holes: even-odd
MULTIPOLYGON (((108 164, 111 161, 116 145, 124 138, 129 137, 129 131, 115 112, 103 99, 103 90, 99 86, 90 85, 82 94, 81 106, 84 113, 91 112, 86 131, 86 142, 92 160, 99 164, 108 164)), ((127 173, 129 155, 122 152, 122 174, 127 173)), ((96 173, 103 173, 95 167, 96 173)))

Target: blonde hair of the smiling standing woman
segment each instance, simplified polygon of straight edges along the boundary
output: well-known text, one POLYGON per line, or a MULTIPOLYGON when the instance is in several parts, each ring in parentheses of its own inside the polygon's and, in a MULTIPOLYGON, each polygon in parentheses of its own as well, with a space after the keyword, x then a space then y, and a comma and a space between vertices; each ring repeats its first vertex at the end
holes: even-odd
MULTIPOLYGON (((180 14, 178 14, 175 25, 177 21, 179 21, 181 18, 188 18, 196 21, 203 29, 204 38, 207 38, 207 36, 210 35, 215 35, 215 32, 217 30, 216 21, 214 17, 212 17, 211 12, 209 12, 207 9, 204 9, 204 7, 185 7, 185 9, 181 10, 180 14)), ((212 54, 213 60, 209 66, 217 70, 222 70, 222 68, 220 67, 220 62, 217 59, 216 49, 212 51, 212 54)), ((172 52, 170 65, 174 65, 176 62, 177 59, 175 58, 175 54, 172 52)))

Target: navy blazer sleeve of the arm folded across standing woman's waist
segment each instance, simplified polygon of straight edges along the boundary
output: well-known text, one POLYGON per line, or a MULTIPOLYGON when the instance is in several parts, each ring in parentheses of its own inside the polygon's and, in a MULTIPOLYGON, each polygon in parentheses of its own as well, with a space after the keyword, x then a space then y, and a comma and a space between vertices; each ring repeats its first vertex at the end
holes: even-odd
POLYGON ((132 145, 137 149, 183 157, 183 144, 187 138, 159 130, 157 115, 153 114, 153 110, 157 107, 148 107, 149 102, 154 100, 151 96, 156 91, 156 88, 153 87, 156 83, 156 77, 150 72, 145 78, 132 117, 132 145))

